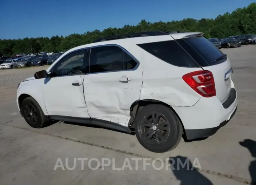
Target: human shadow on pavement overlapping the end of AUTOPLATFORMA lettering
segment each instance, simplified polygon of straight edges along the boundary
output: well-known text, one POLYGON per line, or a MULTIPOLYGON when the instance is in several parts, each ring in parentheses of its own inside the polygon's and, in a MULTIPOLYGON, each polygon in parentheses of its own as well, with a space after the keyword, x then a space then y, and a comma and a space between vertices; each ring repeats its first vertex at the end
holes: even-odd
POLYGON ((213 185, 196 169, 198 163, 193 166, 189 158, 184 156, 170 157, 169 162, 174 175, 181 181, 180 185, 213 185))

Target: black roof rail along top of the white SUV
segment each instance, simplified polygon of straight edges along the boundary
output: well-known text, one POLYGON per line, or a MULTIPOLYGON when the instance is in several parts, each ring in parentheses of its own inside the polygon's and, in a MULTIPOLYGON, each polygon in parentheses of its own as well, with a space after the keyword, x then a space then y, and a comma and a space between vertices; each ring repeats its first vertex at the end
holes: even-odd
POLYGON ((133 33, 133 34, 124 34, 124 35, 103 37, 103 38, 94 40, 93 43, 103 42, 103 41, 107 41, 107 40, 123 39, 123 38, 148 37, 148 36, 159 36, 159 35, 169 35, 169 34, 167 34, 166 32, 163 32, 163 31, 145 31, 145 32, 139 32, 139 33, 133 33))

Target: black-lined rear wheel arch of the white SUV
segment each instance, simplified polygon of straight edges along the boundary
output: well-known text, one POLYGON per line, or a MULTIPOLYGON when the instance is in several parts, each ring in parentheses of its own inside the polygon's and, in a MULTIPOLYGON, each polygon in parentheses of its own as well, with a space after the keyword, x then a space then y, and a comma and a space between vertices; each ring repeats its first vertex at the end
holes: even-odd
POLYGON ((146 105, 149 105, 149 104, 159 104, 159 105, 163 105, 163 106, 166 106, 167 108, 171 109, 175 114, 176 116, 178 117, 178 119, 180 120, 180 123, 182 125, 182 130, 183 130, 183 134, 185 134, 185 130, 184 130, 184 126, 183 126, 183 123, 182 123, 182 120, 180 119, 180 117, 178 116, 178 114, 176 113, 176 111, 168 104, 164 103, 164 102, 161 102, 159 100, 156 100, 156 99, 142 99, 142 100, 137 100, 135 102, 133 102, 133 104, 130 106, 130 120, 129 120, 129 123, 128 123, 128 126, 129 127, 132 127, 133 125, 133 122, 136 118, 136 115, 137 113, 146 105))

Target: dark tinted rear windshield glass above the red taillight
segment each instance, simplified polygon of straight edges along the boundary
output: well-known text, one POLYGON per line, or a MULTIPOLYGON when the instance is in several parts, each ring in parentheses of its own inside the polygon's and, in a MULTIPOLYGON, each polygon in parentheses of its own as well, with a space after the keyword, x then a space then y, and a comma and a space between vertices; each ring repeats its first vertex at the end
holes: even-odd
POLYGON ((204 37, 189 37, 176 40, 202 67, 220 64, 224 58, 214 62, 223 53, 204 37))

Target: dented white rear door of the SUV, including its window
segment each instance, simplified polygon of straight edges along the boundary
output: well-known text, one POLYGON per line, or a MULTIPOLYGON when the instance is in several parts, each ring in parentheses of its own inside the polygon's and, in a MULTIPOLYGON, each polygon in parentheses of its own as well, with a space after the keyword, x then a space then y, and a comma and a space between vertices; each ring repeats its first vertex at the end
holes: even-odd
POLYGON ((84 93, 91 118, 128 125, 130 106, 140 99, 142 65, 119 46, 88 51, 84 93))

